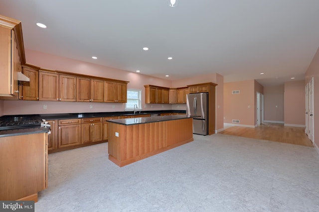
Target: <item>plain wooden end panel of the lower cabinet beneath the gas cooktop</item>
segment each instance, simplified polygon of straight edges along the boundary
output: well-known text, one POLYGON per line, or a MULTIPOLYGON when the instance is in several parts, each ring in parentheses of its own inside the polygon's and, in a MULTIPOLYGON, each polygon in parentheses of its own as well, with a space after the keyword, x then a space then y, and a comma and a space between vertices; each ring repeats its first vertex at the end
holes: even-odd
POLYGON ((0 200, 37 202, 47 188, 47 162, 46 133, 1 137, 0 200))

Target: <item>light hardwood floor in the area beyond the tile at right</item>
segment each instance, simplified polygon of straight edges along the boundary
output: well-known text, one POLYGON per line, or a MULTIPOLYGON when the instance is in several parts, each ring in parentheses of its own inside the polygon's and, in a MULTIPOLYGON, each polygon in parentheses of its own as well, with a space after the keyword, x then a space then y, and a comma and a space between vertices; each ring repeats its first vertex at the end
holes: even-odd
POLYGON ((265 123, 256 128, 235 126, 227 128, 219 134, 314 146, 305 134, 305 128, 285 127, 284 124, 265 123))

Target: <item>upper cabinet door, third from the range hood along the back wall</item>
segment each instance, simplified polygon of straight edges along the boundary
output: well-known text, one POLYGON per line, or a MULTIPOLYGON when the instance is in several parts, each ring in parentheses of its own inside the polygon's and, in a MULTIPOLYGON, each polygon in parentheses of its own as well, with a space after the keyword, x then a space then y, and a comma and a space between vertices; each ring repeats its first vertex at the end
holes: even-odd
POLYGON ((59 101, 75 102, 76 77, 59 75, 59 101))

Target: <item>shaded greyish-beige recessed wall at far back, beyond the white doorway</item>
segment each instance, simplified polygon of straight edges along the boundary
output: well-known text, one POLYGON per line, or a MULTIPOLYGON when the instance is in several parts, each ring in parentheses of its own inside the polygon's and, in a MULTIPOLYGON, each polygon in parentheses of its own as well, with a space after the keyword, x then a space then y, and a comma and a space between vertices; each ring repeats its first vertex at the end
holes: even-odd
POLYGON ((284 84, 264 87, 264 121, 284 123, 284 91, 284 84))

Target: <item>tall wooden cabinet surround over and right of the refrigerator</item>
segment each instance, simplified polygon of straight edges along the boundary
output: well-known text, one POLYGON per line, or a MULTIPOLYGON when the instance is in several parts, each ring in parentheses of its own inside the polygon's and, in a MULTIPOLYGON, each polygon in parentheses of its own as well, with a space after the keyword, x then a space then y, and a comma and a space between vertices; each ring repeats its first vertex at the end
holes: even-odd
POLYGON ((215 134, 216 86, 212 82, 187 85, 189 93, 208 93, 208 135, 215 134))

